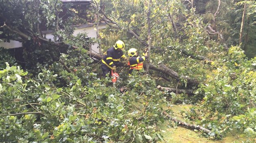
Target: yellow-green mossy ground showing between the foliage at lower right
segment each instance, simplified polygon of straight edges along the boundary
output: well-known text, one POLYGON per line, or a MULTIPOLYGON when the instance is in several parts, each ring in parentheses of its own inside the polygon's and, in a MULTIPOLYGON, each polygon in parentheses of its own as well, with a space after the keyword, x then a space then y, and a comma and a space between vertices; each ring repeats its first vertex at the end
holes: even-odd
MULTIPOLYGON (((189 111, 190 107, 191 105, 172 105, 169 108, 174 112, 174 117, 184 121, 180 111, 189 111)), ((242 143, 243 141, 246 141, 242 135, 239 136, 235 133, 230 133, 222 140, 214 140, 203 137, 200 132, 182 126, 172 126, 172 123, 168 121, 159 125, 159 128, 163 130, 162 135, 164 137, 164 141, 160 141, 159 143, 242 143)))

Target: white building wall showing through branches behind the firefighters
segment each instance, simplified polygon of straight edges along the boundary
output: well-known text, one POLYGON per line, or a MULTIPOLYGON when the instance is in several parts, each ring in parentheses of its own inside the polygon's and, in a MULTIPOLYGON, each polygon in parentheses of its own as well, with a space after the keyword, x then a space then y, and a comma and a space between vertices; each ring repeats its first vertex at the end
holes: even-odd
MULTIPOLYGON (((93 26, 93 25, 77 25, 75 26, 76 29, 73 33, 74 36, 76 36, 77 34, 79 33, 87 33, 87 36, 89 38, 96 38, 97 37, 97 34, 96 34, 96 27, 93 26)), ((102 25, 99 25, 99 29, 102 29, 102 28, 105 28, 106 25, 105 24, 102 24, 102 25)), ((50 32, 43 32, 46 34, 46 38, 47 39, 52 39, 53 40, 53 35, 52 33, 50 32)), ((90 51, 92 53, 99 53, 99 48, 98 48, 99 44, 98 43, 94 43, 91 45, 91 49, 90 51)), ((19 48, 19 47, 22 47, 22 43, 19 42, 19 41, 14 41, 14 40, 11 40, 10 42, 4 42, 4 40, 0 40, 0 47, 4 47, 4 48, 19 48)))

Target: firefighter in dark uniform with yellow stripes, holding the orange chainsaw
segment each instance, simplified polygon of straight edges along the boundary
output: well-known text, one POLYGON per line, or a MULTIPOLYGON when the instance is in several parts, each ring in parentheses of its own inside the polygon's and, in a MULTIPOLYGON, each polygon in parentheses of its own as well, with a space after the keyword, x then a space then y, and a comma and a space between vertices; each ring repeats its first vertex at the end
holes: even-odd
POLYGON ((107 55, 103 57, 101 63, 102 75, 105 77, 107 73, 111 73, 111 69, 113 72, 116 70, 116 65, 119 64, 120 58, 128 61, 128 58, 124 55, 124 42, 118 40, 113 47, 107 50, 107 55))

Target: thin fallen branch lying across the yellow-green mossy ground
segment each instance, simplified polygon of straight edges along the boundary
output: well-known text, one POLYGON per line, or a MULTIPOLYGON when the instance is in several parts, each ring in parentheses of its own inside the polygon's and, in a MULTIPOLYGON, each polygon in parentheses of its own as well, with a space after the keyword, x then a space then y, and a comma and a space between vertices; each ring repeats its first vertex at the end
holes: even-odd
POLYGON ((180 120, 177 120, 176 118, 172 118, 171 116, 169 116, 165 111, 163 111, 163 114, 165 116, 167 116, 170 120, 174 121, 174 122, 177 122, 178 125, 180 126, 184 126, 186 128, 189 128, 189 129, 196 129, 196 130, 202 130, 204 131, 205 133, 207 133, 208 135, 211 133, 210 130, 208 130, 207 128, 204 128, 202 126, 199 126, 199 125, 193 125, 193 124, 189 124, 189 123, 186 123, 186 122, 183 122, 183 121, 180 121, 180 120))

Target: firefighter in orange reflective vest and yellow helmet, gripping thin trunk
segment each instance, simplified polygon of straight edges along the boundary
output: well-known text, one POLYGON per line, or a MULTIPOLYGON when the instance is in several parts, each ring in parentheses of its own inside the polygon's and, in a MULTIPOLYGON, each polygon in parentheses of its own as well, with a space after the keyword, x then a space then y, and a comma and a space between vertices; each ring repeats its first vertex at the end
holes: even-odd
POLYGON ((133 69, 141 70, 143 68, 143 61, 147 59, 148 52, 144 52, 142 57, 138 56, 136 48, 130 48, 128 50, 128 55, 130 56, 128 65, 130 66, 129 75, 132 74, 133 69))

